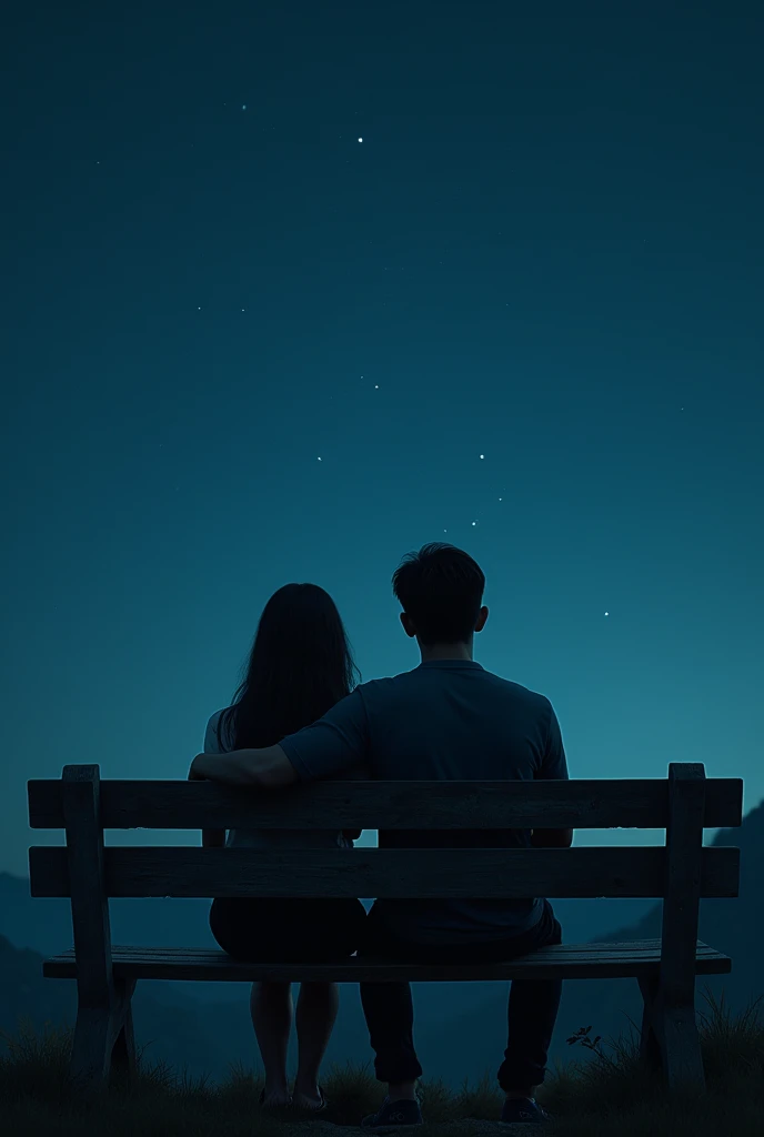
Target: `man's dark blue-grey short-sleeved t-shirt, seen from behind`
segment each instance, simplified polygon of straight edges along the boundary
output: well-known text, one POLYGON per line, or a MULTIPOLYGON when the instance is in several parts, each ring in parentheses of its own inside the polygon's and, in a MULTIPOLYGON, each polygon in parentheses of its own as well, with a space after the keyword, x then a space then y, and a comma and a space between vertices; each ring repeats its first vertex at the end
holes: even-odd
MULTIPOLYGON (((549 699, 466 659, 433 659, 362 683, 279 745, 301 781, 341 779, 359 765, 383 781, 568 777, 549 699)), ((389 830, 380 832, 380 848, 530 848, 530 836, 529 829, 389 830)), ((406 939, 472 944, 534 927, 543 901, 383 898, 375 908, 406 939)))

